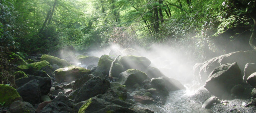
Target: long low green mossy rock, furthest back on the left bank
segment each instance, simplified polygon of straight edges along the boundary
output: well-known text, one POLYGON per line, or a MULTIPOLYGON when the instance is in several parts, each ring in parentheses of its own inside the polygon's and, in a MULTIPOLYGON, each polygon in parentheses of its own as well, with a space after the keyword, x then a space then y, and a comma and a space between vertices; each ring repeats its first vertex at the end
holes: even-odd
POLYGON ((69 64, 69 63, 68 63, 66 60, 64 60, 64 59, 60 59, 60 58, 58 58, 58 57, 54 57, 54 56, 46 55, 46 54, 44 54, 44 55, 41 56, 41 61, 43 61, 43 60, 48 61, 51 65, 52 65, 52 64, 57 64, 57 65, 59 65, 60 67, 64 67, 64 66, 69 66, 69 65, 71 65, 71 64, 69 64))

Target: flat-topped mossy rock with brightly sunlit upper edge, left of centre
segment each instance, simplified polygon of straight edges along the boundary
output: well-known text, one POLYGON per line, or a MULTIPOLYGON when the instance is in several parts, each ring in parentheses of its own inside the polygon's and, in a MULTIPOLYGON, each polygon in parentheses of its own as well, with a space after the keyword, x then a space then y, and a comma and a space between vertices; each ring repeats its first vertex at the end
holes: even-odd
POLYGON ((58 83, 62 82, 72 82, 79 79, 82 75, 90 74, 91 71, 83 67, 71 66, 60 68, 54 71, 56 81, 58 83))

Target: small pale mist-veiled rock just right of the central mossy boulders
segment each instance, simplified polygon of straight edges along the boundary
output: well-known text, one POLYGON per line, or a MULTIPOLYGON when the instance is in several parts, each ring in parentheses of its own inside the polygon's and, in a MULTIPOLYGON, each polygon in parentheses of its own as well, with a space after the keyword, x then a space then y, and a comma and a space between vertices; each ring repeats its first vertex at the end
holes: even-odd
POLYGON ((149 79, 164 76, 159 69, 151 66, 147 67, 145 73, 149 79))

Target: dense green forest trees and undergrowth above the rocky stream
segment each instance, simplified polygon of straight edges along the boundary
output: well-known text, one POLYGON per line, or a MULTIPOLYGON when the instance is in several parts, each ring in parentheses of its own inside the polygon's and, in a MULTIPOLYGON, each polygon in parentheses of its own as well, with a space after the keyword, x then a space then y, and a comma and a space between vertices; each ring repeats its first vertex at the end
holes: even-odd
POLYGON ((160 43, 198 59, 256 49, 255 13, 256 0, 0 0, 1 78, 12 53, 70 45, 85 51, 160 43))

